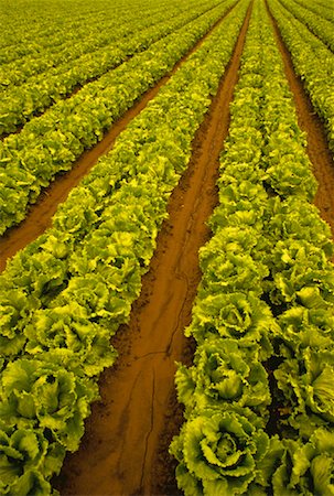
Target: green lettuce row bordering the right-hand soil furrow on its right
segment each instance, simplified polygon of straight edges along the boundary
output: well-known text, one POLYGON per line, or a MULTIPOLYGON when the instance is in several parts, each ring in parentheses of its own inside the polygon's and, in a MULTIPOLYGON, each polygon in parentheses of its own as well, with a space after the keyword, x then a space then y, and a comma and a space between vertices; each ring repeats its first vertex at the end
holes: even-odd
POLYGON ((268 4, 291 53, 294 71, 325 125, 328 145, 334 151, 334 53, 280 1, 268 0, 268 4))

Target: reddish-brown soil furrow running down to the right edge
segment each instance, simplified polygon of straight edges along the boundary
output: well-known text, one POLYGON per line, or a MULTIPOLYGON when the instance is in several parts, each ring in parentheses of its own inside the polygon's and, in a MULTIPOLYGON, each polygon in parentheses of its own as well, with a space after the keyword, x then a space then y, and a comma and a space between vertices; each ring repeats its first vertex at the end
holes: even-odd
POLYGON ((313 174, 319 183, 313 203, 319 208, 321 217, 330 225, 332 238, 334 238, 334 162, 333 154, 328 149, 325 128, 312 106, 301 78, 294 72, 290 52, 282 40, 267 1, 266 6, 274 29, 277 44, 282 55, 290 90, 293 94, 298 123, 306 133, 306 151, 313 165, 313 174))

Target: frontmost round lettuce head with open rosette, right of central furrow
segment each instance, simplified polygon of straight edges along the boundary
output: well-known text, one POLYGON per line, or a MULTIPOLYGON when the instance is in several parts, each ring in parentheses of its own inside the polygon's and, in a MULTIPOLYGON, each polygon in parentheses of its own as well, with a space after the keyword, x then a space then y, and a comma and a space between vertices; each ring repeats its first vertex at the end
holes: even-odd
POLYGON ((185 496, 247 494, 269 438, 259 429, 259 419, 246 418, 246 411, 206 410, 185 422, 170 448, 179 461, 176 479, 185 496))

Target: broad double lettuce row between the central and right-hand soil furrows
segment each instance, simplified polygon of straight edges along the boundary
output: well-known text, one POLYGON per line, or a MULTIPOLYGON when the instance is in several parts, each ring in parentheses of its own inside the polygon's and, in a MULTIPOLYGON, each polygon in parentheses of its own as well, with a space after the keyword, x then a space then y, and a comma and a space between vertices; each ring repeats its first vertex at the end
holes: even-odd
POLYGON ((170 452, 187 496, 330 496, 333 244, 262 0, 239 74, 170 452))

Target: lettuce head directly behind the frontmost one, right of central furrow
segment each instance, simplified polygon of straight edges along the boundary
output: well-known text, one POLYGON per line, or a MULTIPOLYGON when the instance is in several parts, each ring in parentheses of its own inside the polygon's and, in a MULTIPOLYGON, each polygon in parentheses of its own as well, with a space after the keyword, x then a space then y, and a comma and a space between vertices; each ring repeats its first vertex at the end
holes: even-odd
POLYGON ((258 346, 243 348, 237 339, 206 339, 198 346, 194 366, 179 366, 179 400, 194 409, 249 407, 265 420, 271 402, 268 377, 258 359, 258 346))

